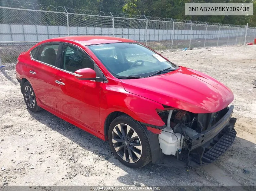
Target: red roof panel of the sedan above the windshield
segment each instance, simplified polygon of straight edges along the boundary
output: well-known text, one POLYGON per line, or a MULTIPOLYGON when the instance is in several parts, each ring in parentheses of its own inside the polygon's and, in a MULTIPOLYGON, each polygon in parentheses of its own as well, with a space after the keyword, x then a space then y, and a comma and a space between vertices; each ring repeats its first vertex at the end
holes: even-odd
MULTIPOLYGON (((46 40, 51 42, 53 39, 46 40)), ((108 36, 71 36, 71 37, 58 37, 54 38, 54 41, 78 41, 84 45, 93 45, 93 44, 105 44, 105 43, 136 43, 134 40, 129 40, 125 38, 118 37, 108 37, 108 36)))

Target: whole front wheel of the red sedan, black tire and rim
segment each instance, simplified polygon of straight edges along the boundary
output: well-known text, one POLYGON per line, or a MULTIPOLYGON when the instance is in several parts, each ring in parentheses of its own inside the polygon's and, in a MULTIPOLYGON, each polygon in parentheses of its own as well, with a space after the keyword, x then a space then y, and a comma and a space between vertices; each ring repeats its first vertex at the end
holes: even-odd
POLYGON ((130 116, 121 115, 111 122, 108 140, 112 152, 128 167, 141 168, 152 160, 147 134, 130 116))

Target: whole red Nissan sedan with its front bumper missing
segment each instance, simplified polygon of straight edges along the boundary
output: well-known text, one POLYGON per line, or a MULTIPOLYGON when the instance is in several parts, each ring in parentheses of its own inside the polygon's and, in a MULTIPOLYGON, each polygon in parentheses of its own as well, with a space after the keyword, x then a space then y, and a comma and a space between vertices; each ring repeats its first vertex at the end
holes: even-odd
POLYGON ((16 75, 30 111, 109 140, 128 167, 208 164, 236 136, 229 88, 133 40, 45 40, 21 53, 16 75))

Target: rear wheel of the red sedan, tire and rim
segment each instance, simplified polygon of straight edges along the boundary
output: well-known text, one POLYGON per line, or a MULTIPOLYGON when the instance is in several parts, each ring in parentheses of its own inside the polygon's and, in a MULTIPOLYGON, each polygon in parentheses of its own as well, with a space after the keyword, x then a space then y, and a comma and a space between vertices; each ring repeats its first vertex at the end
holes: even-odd
POLYGON ((24 97, 24 101, 26 103, 26 106, 28 107, 28 109, 32 112, 37 112, 37 111, 41 111, 43 110, 42 107, 39 107, 37 105, 36 102, 36 97, 35 97, 35 92, 31 86, 31 84, 26 81, 23 86, 22 86, 22 90, 23 90, 23 97, 24 97))

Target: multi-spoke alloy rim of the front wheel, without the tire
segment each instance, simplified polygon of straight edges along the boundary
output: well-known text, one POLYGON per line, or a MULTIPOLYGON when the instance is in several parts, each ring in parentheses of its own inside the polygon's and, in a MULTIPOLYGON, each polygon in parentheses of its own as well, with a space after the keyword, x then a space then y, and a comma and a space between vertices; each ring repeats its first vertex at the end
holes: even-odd
POLYGON ((112 142, 115 151, 124 161, 135 163, 141 158, 141 141, 131 126, 123 123, 116 125, 112 131, 112 142))

